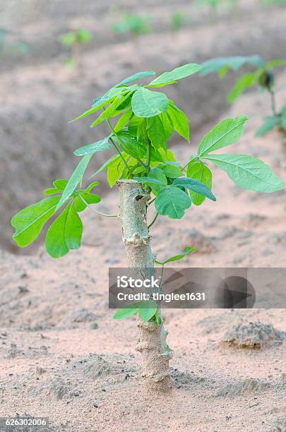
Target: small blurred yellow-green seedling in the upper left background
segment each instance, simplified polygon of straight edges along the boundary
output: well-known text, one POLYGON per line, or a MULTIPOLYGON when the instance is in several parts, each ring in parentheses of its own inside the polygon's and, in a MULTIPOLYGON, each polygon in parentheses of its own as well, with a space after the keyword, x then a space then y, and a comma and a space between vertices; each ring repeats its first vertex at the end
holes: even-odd
POLYGON ((79 66, 81 46, 93 40, 93 33, 86 29, 73 30, 61 35, 61 44, 68 48, 70 56, 65 60, 67 66, 79 66))

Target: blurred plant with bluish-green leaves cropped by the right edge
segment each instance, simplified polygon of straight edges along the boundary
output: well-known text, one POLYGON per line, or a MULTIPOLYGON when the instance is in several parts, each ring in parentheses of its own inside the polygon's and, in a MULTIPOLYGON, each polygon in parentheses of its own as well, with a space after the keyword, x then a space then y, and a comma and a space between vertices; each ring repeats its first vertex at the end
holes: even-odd
POLYGON ((218 73, 221 77, 225 76, 228 71, 239 71, 243 66, 251 66, 254 71, 244 73, 237 78, 234 88, 227 97, 228 102, 233 103, 237 97, 242 95, 247 89, 257 87, 260 90, 268 92, 270 95, 271 115, 265 117, 264 124, 256 131, 256 136, 266 135, 273 128, 280 128, 286 134, 286 105, 278 109, 276 102, 275 89, 275 68, 285 66, 286 60, 278 59, 265 61, 261 56, 235 56, 220 57, 205 61, 201 69, 201 76, 207 76, 209 73, 218 73))

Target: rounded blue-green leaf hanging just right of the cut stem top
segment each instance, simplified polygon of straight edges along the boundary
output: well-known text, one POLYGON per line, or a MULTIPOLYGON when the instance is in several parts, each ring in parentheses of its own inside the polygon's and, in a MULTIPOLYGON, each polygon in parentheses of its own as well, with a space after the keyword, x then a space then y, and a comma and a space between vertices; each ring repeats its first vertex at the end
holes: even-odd
POLYGON ((184 216, 184 210, 190 207, 189 195, 176 186, 167 186, 162 189, 155 200, 157 212, 172 219, 181 219, 184 216))

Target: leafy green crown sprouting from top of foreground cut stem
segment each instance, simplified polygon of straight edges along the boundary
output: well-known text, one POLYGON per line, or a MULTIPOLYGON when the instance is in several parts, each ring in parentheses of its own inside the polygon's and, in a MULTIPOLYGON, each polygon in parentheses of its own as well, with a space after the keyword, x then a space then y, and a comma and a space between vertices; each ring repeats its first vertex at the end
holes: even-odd
POLYGON ((213 153, 242 137, 246 116, 221 121, 203 137, 196 154, 192 152, 185 164, 176 160, 169 150, 168 140, 174 132, 189 143, 189 119, 161 89, 202 70, 201 65, 186 64, 162 73, 148 84, 138 80, 153 77, 155 72, 136 73, 97 97, 90 109, 73 119, 93 116, 90 127, 105 122, 109 135, 75 150, 74 154, 81 160, 71 178, 54 182, 54 187, 45 192, 51 197, 13 217, 11 224, 16 229, 13 239, 17 244, 24 247, 32 243, 50 217, 64 208, 47 232, 47 251, 59 257, 80 246, 83 226, 78 213, 98 203, 100 197, 91 193, 96 182, 85 189, 79 189, 78 185, 93 155, 112 148, 115 154, 93 176, 106 171, 111 187, 119 179, 135 179, 153 193, 157 215, 173 219, 181 219, 192 203, 201 205, 206 198, 216 200, 210 163, 225 171, 242 188, 266 193, 282 189, 284 185, 279 177, 260 160, 249 155, 213 153))

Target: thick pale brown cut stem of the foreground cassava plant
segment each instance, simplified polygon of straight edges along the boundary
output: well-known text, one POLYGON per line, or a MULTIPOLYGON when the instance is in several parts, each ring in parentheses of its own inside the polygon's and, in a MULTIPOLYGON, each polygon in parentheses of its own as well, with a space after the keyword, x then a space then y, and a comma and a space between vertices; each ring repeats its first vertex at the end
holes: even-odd
MULTIPOLYGON (((120 219, 127 265, 134 277, 150 277, 154 273, 154 253, 152 251, 147 225, 147 203, 150 195, 138 181, 117 181, 120 194, 120 219), (134 269, 134 270, 132 270, 134 269)), ((167 342, 167 330, 157 325, 155 320, 144 323, 137 317, 138 341, 136 350, 141 352, 143 384, 148 392, 169 392, 169 359, 172 358, 167 342)))

